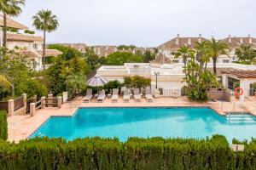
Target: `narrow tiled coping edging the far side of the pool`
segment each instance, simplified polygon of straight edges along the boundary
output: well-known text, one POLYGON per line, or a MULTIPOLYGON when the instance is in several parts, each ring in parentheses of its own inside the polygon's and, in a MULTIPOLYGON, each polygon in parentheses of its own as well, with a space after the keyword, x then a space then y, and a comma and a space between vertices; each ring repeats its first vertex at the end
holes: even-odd
MULTIPOLYGON (((84 106, 79 106, 74 112, 72 116, 49 116, 39 127, 37 127, 36 130, 34 130, 26 139, 30 139, 32 137, 32 135, 34 135, 35 133, 38 132, 40 127, 43 127, 44 124, 46 122, 49 121, 50 118, 54 118, 54 117, 65 117, 65 118, 72 118, 73 116, 76 115, 77 111, 79 111, 79 109, 104 109, 104 108, 108 108, 108 109, 160 109, 160 108, 164 108, 164 109, 210 109, 212 110, 214 113, 216 113, 218 116, 228 116, 229 113, 235 113, 236 115, 238 114, 247 114, 250 116, 254 116, 252 113, 250 112, 244 112, 244 111, 228 111, 228 112, 224 112, 226 115, 222 115, 220 114, 218 111, 216 111, 215 109, 213 109, 211 106, 89 106, 89 107, 84 107, 84 106)), ((256 116, 254 116, 256 117, 256 116)))

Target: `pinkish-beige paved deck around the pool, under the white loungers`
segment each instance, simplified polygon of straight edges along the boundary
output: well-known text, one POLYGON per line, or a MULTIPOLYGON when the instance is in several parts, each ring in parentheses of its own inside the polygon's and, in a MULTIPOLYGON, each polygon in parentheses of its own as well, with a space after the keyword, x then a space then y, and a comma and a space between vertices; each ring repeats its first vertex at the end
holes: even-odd
POLYGON ((79 107, 134 107, 134 106, 210 106, 213 110, 218 111, 219 114, 225 115, 225 112, 237 111, 237 112, 250 112, 256 116, 256 98, 250 97, 246 99, 244 105, 239 105, 239 101, 232 99, 231 102, 206 102, 196 103, 190 102, 185 97, 177 99, 173 98, 160 98, 154 99, 154 102, 148 103, 145 99, 141 102, 134 102, 133 99, 129 103, 124 103, 123 99, 119 99, 119 102, 112 103, 111 99, 105 99, 103 103, 96 103, 95 99, 92 99, 90 103, 83 103, 83 98, 79 97, 74 99, 71 103, 62 105, 61 109, 58 108, 45 108, 44 110, 38 110, 35 116, 11 116, 8 117, 8 133, 9 141, 19 142, 22 139, 27 139, 42 123, 44 123, 49 116, 72 116, 73 113, 79 107), (235 110, 234 110, 235 104, 235 110))

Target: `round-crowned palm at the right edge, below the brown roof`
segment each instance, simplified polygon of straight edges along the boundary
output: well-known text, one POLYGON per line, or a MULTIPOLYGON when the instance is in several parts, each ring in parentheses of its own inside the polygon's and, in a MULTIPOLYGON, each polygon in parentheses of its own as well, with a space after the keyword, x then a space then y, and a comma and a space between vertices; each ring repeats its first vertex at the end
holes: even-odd
POLYGON ((256 50, 251 46, 241 45, 240 48, 236 48, 236 57, 241 61, 251 62, 256 57, 256 50))

